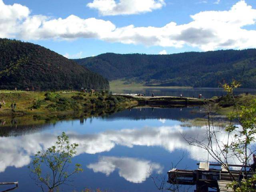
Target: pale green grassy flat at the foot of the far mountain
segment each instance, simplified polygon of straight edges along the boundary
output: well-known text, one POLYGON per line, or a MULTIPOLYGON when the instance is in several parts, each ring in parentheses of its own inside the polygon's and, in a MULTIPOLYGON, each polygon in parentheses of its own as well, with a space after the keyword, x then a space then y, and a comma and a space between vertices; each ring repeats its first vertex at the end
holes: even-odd
POLYGON ((125 80, 113 80, 109 82, 110 90, 140 90, 140 89, 180 89, 180 88, 192 88, 192 87, 178 87, 178 86, 145 86, 144 82, 128 82, 125 80))

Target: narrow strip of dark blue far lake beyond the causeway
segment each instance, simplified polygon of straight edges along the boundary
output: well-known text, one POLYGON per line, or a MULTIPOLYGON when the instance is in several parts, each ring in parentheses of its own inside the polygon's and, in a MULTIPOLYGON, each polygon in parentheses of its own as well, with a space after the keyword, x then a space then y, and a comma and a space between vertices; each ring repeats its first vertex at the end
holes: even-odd
MULTIPOLYGON (((179 97, 180 94, 184 97, 192 97, 193 95, 197 98, 199 94, 202 94, 204 98, 212 98, 213 96, 222 96, 226 93, 222 88, 191 88, 191 89, 139 89, 139 90, 113 90, 113 93, 139 93, 146 94, 146 96, 176 96, 179 97)), ((244 94, 248 92, 249 94, 256 94, 256 89, 236 89, 234 93, 244 94)))

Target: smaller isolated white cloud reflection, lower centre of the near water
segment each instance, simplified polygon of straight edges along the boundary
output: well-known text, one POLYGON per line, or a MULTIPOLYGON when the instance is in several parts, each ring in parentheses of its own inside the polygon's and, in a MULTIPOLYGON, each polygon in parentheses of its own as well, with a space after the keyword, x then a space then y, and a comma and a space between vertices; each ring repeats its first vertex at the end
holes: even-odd
POLYGON ((94 172, 102 172, 107 176, 118 169, 119 176, 133 183, 142 183, 149 177, 149 171, 162 173, 160 164, 152 163, 148 160, 140 160, 128 157, 107 157, 102 156, 97 163, 87 166, 94 172))

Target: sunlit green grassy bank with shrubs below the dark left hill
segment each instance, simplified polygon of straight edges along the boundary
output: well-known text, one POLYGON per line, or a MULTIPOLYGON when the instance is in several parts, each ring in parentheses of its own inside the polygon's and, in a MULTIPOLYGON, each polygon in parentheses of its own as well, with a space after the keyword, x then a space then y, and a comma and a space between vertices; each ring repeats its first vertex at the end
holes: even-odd
POLYGON ((0 91, 0 100, 6 102, 2 105, 0 116, 24 115, 67 115, 88 111, 104 110, 110 108, 129 108, 135 106, 135 101, 109 94, 89 94, 81 92, 24 92, 0 91), (11 104, 16 103, 16 109, 11 104))

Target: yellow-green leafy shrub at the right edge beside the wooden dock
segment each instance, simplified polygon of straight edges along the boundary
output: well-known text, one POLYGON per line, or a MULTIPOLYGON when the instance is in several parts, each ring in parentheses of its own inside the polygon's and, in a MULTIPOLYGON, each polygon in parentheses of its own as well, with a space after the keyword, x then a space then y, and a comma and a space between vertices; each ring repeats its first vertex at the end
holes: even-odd
MULTIPOLYGON (((231 84, 224 84, 223 88, 226 92, 232 95, 234 101, 234 111, 228 115, 230 122, 238 120, 240 126, 231 124, 226 127, 229 134, 233 134, 234 139, 230 143, 224 144, 224 152, 226 154, 233 153, 238 160, 246 167, 249 165, 248 159, 251 155, 250 145, 256 141, 256 100, 253 100, 249 106, 237 106, 236 100, 233 97, 233 91, 240 86, 235 80, 231 84), (238 107, 241 108, 238 114, 238 107)), ((244 168, 246 169, 246 168, 244 168)), ((234 180, 227 188, 234 188, 235 192, 253 192, 255 188, 256 175, 252 178, 243 179, 241 182, 234 180)))

